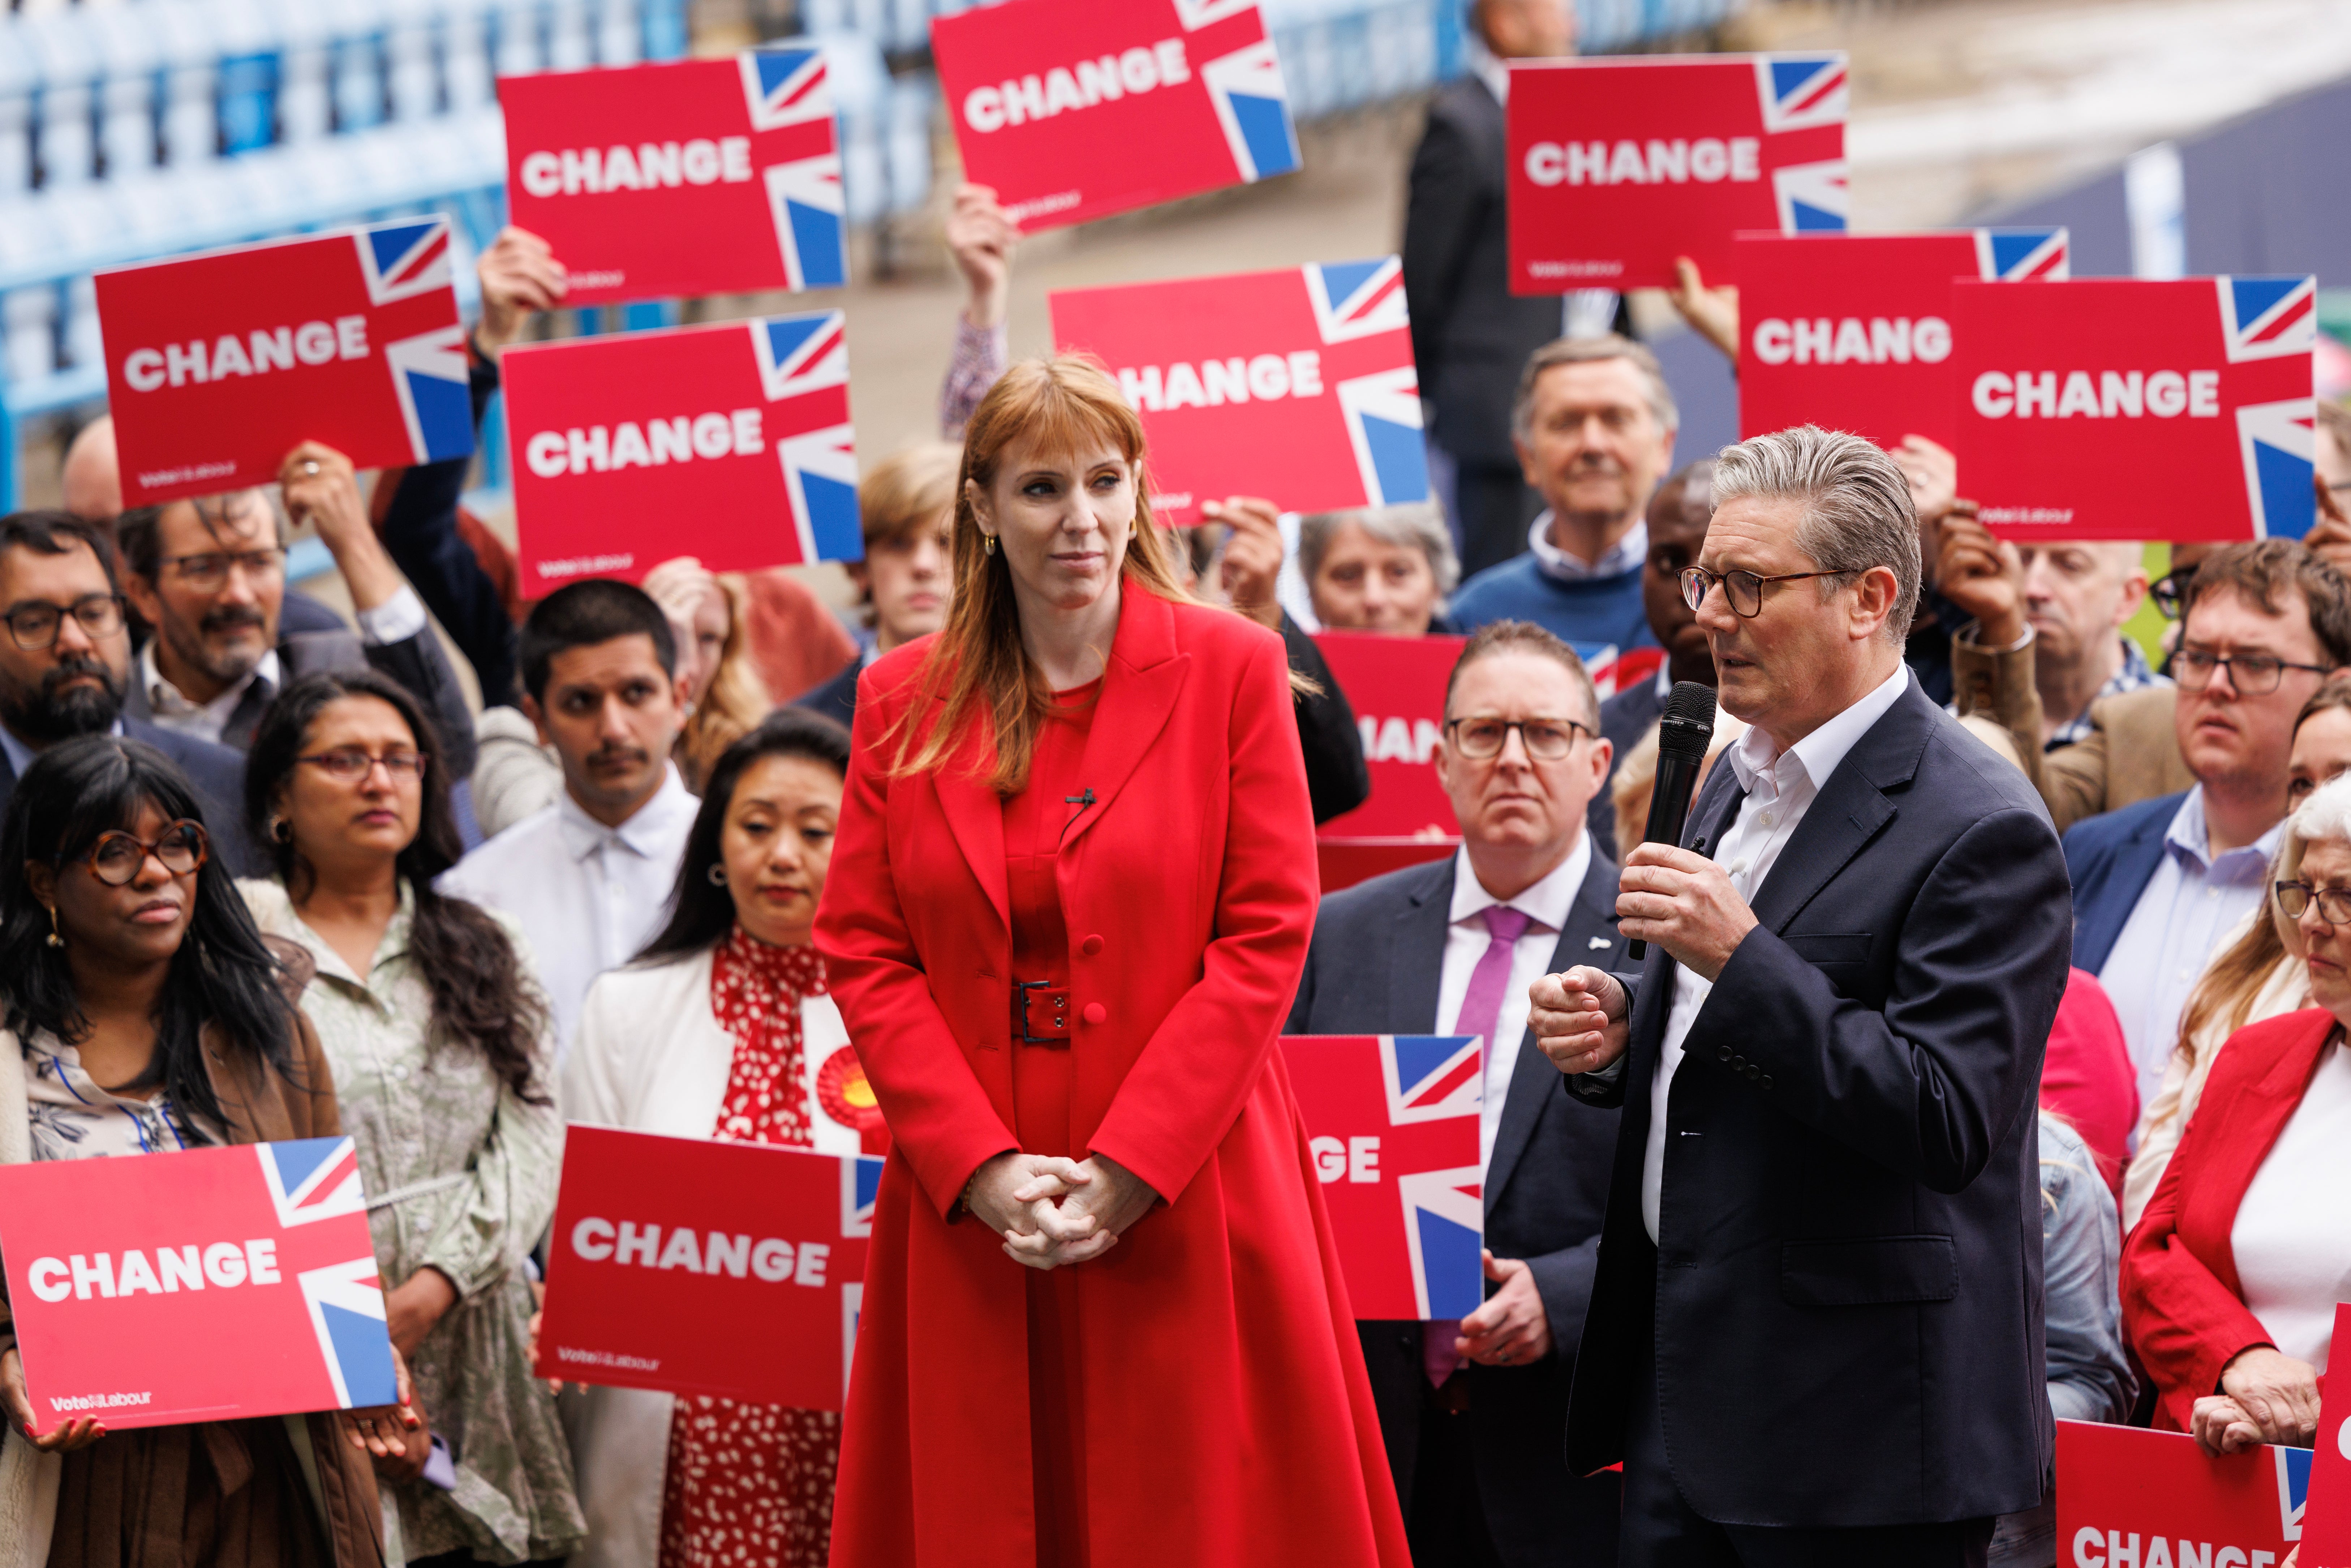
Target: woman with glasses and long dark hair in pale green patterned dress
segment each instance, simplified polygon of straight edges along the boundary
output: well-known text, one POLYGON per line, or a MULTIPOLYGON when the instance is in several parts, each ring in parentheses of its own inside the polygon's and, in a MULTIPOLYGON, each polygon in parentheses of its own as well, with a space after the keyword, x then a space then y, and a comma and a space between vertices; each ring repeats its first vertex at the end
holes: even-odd
POLYGON ((237 886, 317 966, 301 1006, 435 1439, 381 1467, 407 1559, 562 1559, 585 1528, 524 1274, 562 1161, 552 1030, 508 919, 433 891, 458 858, 442 738, 383 675, 306 675, 261 717, 245 809, 277 877, 237 886))

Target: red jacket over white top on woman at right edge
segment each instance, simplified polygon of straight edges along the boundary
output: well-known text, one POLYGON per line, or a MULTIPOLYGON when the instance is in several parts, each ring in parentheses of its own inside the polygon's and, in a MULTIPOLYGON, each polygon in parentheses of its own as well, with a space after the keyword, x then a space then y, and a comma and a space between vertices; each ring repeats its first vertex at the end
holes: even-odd
POLYGON ((2219 1392, 2229 1359, 2269 1345, 2262 1319, 2245 1309, 2229 1234, 2332 1034, 2335 1016, 2316 1006, 2231 1034, 2179 1152, 2123 1241, 2123 1333, 2156 1380, 2158 1429, 2186 1432, 2196 1401, 2219 1392))

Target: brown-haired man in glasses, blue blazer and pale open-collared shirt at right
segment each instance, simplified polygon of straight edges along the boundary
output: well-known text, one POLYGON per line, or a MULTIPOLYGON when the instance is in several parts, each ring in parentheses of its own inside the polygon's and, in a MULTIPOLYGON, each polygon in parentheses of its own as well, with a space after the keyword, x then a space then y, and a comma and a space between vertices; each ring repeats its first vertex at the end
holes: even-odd
POLYGON ((2064 835, 2074 964, 2114 997, 2139 1072, 2163 1086, 2205 961, 2269 898, 2295 715, 2351 663, 2351 583, 2290 538, 2215 550, 2179 609, 2172 733, 2196 783, 2064 835))

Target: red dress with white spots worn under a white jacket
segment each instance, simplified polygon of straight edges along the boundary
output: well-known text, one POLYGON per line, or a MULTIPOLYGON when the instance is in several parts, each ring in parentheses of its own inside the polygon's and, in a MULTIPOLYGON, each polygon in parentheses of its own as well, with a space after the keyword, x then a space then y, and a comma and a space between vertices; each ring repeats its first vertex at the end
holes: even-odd
MULTIPOLYGON (((823 994, 813 947, 736 926, 710 957, 710 1013, 734 1041, 710 1135, 816 1143, 802 1088, 802 997, 823 994)), ((679 1394, 661 1483, 661 1568, 823 1568, 842 1418, 679 1394)))

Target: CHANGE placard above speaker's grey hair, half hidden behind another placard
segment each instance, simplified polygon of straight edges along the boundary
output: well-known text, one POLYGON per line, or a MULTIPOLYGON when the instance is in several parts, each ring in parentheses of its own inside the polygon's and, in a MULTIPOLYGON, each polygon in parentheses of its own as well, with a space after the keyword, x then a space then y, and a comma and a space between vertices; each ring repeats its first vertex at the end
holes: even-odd
POLYGON ((1951 284, 2064 280, 2067 249, 2062 228, 1740 235, 1740 437, 1822 425, 1949 447, 1951 284))

